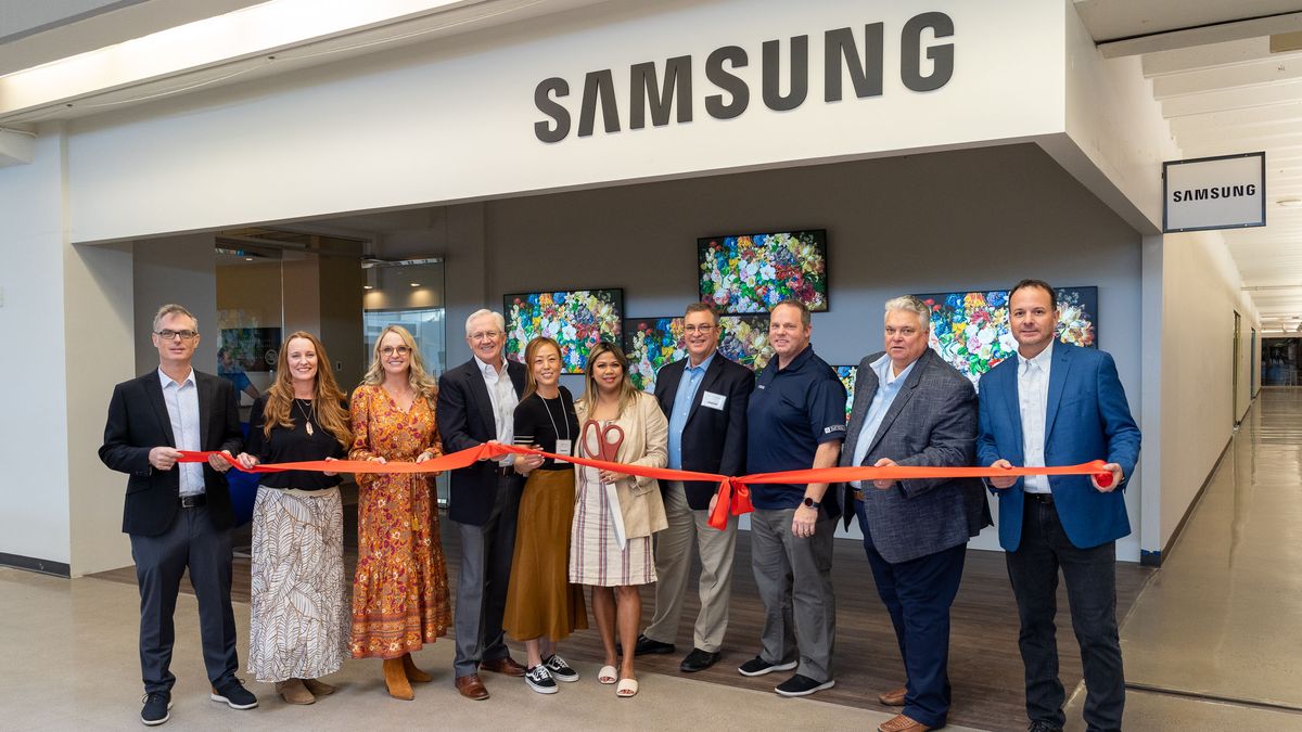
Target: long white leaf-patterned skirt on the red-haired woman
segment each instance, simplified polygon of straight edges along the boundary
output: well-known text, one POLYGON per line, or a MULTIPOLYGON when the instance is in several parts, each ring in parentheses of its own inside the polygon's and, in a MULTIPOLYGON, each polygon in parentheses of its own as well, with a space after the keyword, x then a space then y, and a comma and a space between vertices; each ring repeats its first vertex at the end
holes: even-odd
POLYGON ((348 654, 346 591, 339 488, 258 486, 249 673, 271 683, 339 671, 348 654))

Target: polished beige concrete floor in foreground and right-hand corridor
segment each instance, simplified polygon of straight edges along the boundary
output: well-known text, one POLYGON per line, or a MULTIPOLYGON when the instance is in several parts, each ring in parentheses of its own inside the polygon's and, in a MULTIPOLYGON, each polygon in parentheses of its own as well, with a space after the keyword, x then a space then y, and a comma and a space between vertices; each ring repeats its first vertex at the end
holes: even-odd
MULTIPOLYGON (((0 568, 0 729, 139 729, 137 612, 129 585, 0 568)), ((237 604, 242 630, 247 612, 237 604)), ((1122 647, 1131 685, 1128 729, 1302 731, 1302 389, 1262 392, 1176 547, 1128 613, 1122 647)), ((452 688, 450 655, 447 641, 417 654, 436 679, 417 686, 414 702, 384 694, 378 662, 349 662, 331 677, 340 692, 316 705, 290 707, 268 685, 250 684, 263 706, 233 711, 207 698, 194 598, 182 595, 168 727, 872 729, 889 716, 677 673, 642 672, 642 693, 617 699, 595 683, 591 663, 575 663, 585 677, 552 697, 490 675, 492 699, 469 702, 452 688)), ((1085 728, 1083 698, 1077 686, 1069 729, 1085 728)))

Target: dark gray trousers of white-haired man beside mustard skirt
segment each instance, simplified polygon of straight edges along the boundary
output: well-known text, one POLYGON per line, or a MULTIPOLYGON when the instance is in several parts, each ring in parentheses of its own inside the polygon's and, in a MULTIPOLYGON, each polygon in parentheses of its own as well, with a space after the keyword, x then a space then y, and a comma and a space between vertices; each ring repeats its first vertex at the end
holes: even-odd
POLYGON ((516 514, 519 496, 513 475, 499 475, 492 512, 482 526, 453 522, 461 537, 461 574, 457 580, 454 626, 457 677, 479 672, 484 660, 510 655, 501 629, 516 552, 516 514))

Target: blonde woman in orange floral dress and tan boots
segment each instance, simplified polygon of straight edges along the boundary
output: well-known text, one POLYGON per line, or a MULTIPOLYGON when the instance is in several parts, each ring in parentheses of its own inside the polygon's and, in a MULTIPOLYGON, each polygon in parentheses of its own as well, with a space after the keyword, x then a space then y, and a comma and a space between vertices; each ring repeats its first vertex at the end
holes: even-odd
MULTIPOLYGON (((437 386, 411 333, 389 326, 353 392, 350 460, 423 462, 443 455, 434 417, 437 386)), ((411 699, 432 677, 411 651, 445 636, 452 621, 439 543, 434 474, 358 474, 358 559, 353 577, 353 658, 384 659, 389 696, 411 699)))

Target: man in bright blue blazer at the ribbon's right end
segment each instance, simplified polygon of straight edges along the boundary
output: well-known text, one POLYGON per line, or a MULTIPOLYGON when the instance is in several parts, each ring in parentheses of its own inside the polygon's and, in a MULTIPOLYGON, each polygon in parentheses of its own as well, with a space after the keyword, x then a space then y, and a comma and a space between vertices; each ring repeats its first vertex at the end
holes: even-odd
POLYGON ((991 468, 1105 460, 1111 473, 1105 485, 1092 475, 990 479, 1021 620, 1030 728, 1048 732, 1066 723, 1053 626, 1061 568, 1081 643, 1085 722, 1090 729, 1121 729, 1116 541, 1130 533, 1122 491, 1139 458, 1139 427, 1112 357, 1055 343, 1057 294, 1048 283, 1017 283, 1009 319, 1017 357, 980 380, 978 460, 991 468))

